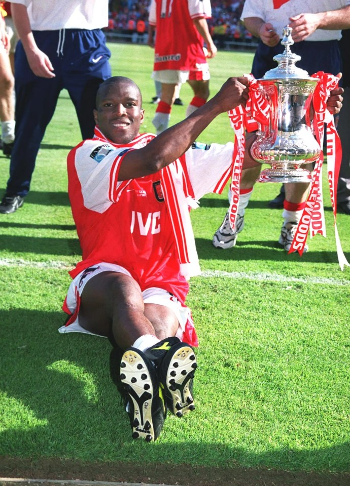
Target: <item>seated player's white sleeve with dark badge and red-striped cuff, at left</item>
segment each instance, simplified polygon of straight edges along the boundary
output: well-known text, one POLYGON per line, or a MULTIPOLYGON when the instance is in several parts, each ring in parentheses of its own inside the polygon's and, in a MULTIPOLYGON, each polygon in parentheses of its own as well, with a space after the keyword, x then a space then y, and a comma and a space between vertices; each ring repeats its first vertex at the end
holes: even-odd
POLYGON ((100 140, 87 140, 77 149, 75 169, 87 209, 103 213, 118 200, 118 172, 129 150, 100 140))

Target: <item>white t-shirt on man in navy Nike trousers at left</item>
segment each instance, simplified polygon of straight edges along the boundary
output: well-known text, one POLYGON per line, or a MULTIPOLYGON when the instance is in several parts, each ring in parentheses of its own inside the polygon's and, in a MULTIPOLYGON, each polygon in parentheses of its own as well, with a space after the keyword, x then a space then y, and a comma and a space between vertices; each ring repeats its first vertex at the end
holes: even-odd
POLYGON ((99 29, 108 25, 108 0, 9 0, 27 8, 32 30, 99 29))

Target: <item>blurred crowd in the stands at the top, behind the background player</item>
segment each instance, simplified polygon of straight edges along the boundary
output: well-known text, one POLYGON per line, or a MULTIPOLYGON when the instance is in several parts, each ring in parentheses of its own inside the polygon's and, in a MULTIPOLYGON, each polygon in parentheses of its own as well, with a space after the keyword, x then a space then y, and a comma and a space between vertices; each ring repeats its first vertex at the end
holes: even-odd
MULTIPOLYGON (((252 34, 240 22, 244 0, 212 0, 210 33, 218 49, 229 42, 251 43, 252 34)), ((131 35, 133 43, 147 44, 150 0, 112 0, 110 2, 110 32, 131 35)))

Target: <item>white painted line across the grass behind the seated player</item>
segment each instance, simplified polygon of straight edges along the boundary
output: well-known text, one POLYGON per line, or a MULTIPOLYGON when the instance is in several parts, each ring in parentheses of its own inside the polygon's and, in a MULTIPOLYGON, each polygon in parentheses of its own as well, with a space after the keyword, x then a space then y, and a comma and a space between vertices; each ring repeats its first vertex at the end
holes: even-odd
MULTIPOLYGON (((64 262, 35 262, 23 260, 20 258, 2 258, 0 259, 0 266, 4 267, 27 267, 27 268, 46 268, 52 270, 72 270, 74 265, 69 265, 64 262)), ((300 282, 301 284, 322 284, 334 286, 350 286, 350 282, 344 279, 333 277, 293 277, 280 275, 278 273, 269 272, 225 272, 223 270, 203 270, 200 277, 224 277, 224 278, 242 278, 244 280, 253 281, 270 281, 270 282, 300 282)))

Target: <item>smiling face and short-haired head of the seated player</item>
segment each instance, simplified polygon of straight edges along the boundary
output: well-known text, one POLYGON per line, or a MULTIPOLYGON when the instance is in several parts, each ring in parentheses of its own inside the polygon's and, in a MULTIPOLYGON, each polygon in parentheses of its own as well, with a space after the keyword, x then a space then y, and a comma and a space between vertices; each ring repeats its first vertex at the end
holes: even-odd
POLYGON ((96 96, 95 123, 112 142, 131 142, 144 120, 142 96, 137 85, 127 78, 115 76, 104 81, 96 96))

